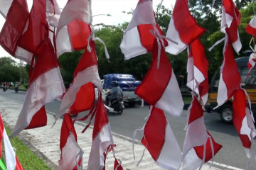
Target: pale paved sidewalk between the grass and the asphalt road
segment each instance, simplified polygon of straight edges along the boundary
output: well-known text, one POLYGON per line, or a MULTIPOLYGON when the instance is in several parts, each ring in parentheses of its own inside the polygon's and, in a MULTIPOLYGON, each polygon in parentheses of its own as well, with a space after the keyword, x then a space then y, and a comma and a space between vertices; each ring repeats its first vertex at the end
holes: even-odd
MULTIPOLYGON (((22 103, 16 101, 6 100, 0 97, 0 113, 4 120, 4 123, 9 125, 11 129, 16 125, 16 120, 21 111, 22 103)), ((35 152, 38 157, 46 160, 48 166, 53 169, 57 169, 58 160, 60 159, 60 128, 62 124, 62 119, 57 121, 53 125, 53 115, 48 113, 48 125, 43 128, 36 128, 31 130, 23 130, 18 137, 25 142, 25 144, 30 147, 33 152, 35 152)), ((111 125, 110 125, 111 126, 111 125)), ((87 161, 90 154, 91 144, 92 144, 92 128, 88 128, 83 134, 81 131, 85 128, 85 125, 81 123, 75 123, 75 130, 78 134, 78 145, 83 149, 83 169, 87 169, 87 161)), ((145 150, 144 157, 141 164, 137 166, 137 162, 140 159, 142 152, 144 150, 143 145, 135 144, 134 152, 136 159, 134 161, 132 154, 132 142, 125 140, 124 137, 118 135, 113 135, 114 143, 117 145, 115 147, 115 154, 118 159, 122 160, 122 166, 124 169, 135 170, 135 169, 147 169, 147 170, 157 170, 161 169, 157 166, 154 160, 151 158, 149 152, 145 150)), ((107 157, 106 169, 113 169, 114 159, 112 158, 112 152, 107 157)), ((204 164, 202 170, 210 168, 210 164, 204 164)), ((213 163, 211 170, 219 169, 229 169, 228 166, 219 166, 213 163), (217 167, 218 166, 218 167, 217 167)))

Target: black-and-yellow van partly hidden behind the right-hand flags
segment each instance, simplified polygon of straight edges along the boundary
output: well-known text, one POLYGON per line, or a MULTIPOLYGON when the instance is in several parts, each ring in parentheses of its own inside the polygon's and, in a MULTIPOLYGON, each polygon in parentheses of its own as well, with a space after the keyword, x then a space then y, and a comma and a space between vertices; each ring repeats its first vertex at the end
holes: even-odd
MULTIPOLYGON (((235 60, 238 64, 238 71, 241 77, 241 87, 247 91, 247 94, 250 96, 252 113, 256 112, 256 67, 253 67, 250 74, 247 76, 249 69, 247 67, 247 62, 249 60, 249 56, 240 57, 235 60)), ((232 99, 225 102, 222 106, 215 108, 218 106, 217 103, 217 94, 218 94, 218 84, 220 79, 220 68, 215 72, 213 79, 210 83, 209 89, 209 98, 208 103, 206 105, 208 113, 216 112, 220 113, 220 118, 225 123, 233 123, 233 106, 232 99), (215 108, 213 110, 213 108, 215 108)))

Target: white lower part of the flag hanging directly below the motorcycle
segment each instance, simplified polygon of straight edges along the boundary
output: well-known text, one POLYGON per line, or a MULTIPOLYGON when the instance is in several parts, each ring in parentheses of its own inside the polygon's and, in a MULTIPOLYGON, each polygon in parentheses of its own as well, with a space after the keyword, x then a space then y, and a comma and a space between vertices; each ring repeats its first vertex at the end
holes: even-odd
POLYGON ((107 123, 92 141, 92 149, 87 166, 88 170, 100 170, 103 168, 105 159, 103 153, 105 152, 105 149, 113 143, 110 123, 107 123))

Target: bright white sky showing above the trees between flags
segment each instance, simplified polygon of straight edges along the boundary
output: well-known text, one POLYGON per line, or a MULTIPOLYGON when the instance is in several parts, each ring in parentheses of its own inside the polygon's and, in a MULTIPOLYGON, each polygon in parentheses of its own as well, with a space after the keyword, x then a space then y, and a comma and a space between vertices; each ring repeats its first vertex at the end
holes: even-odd
MULTIPOLYGON (((28 1, 28 8, 32 6, 32 0, 28 1)), ((63 8, 67 0, 57 0, 60 8, 63 8)), ((129 22, 132 15, 122 13, 122 11, 131 11, 135 9, 139 0, 92 0, 92 24, 104 23, 105 25, 117 26, 119 23, 129 22), (106 16, 110 14, 110 16, 106 16)), ((176 0, 164 0, 163 5, 166 8, 171 8, 176 0)), ((153 8, 156 10, 156 6, 161 3, 161 0, 153 0, 153 8)), ((4 25, 4 17, 0 15, 0 30, 4 25)), ((6 52, 0 46, 0 57, 9 57, 6 52)))

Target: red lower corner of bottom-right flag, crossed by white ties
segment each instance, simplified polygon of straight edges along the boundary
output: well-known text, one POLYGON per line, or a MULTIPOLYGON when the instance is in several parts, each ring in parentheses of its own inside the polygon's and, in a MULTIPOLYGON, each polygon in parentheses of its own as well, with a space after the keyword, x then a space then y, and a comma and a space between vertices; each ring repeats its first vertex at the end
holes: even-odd
MULTIPOLYGON (((216 143, 215 140, 213 140, 213 137, 210 135, 210 133, 208 131, 207 131, 207 133, 210 136, 211 140, 213 141, 213 151, 214 151, 214 155, 215 155, 219 152, 219 150, 223 146, 216 143)), ((208 138, 208 140, 206 142, 206 159, 205 159, 205 162, 208 162, 210 159, 213 158, 212 150, 211 150, 211 147, 210 147, 210 138, 208 138)), ((198 157, 200 159, 203 159, 204 146, 202 145, 202 146, 194 147, 194 149, 195 149, 196 154, 198 155, 198 157)))

